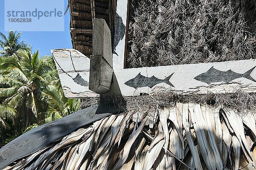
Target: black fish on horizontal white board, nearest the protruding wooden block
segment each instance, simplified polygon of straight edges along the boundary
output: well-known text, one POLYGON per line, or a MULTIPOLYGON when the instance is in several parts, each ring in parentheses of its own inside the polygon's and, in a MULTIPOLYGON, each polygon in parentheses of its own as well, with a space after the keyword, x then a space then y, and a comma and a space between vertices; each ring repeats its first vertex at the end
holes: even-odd
MULTIPOLYGON (((174 73, 173 73, 174 74, 174 73)), ((133 88, 141 88, 141 87, 154 87, 155 85, 159 84, 159 83, 166 83, 167 85, 170 85, 172 87, 174 87, 172 85, 171 82, 169 82, 169 79, 172 77, 171 74, 170 76, 166 77, 165 79, 157 79, 156 77, 152 76, 152 77, 145 77, 143 75, 141 75, 140 73, 134 77, 133 79, 128 80, 127 82, 125 82, 125 85, 128 85, 130 87, 133 88)))

